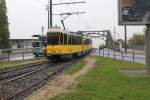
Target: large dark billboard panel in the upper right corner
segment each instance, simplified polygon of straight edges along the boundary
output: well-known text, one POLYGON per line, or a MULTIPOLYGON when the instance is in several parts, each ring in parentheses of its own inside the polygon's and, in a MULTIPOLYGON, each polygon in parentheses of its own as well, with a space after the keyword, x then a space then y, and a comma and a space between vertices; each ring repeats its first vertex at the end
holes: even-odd
POLYGON ((150 24, 150 0, 119 0, 120 25, 150 24))

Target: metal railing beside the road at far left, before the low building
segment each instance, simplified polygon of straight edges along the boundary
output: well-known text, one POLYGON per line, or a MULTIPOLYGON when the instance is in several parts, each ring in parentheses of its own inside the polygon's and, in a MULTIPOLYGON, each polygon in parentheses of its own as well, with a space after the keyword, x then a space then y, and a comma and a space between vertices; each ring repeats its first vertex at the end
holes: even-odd
POLYGON ((27 49, 0 49, 0 61, 10 61, 19 58, 24 60, 26 55, 33 54, 33 48, 27 49))

